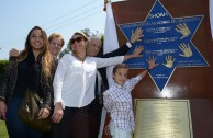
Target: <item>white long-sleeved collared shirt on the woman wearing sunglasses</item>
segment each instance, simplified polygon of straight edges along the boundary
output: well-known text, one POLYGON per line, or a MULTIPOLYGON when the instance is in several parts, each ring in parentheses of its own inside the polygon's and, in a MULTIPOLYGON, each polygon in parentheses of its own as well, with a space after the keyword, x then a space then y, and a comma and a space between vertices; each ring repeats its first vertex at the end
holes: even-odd
POLYGON ((71 54, 59 60, 54 77, 54 104, 61 102, 63 107, 82 107, 94 99, 97 68, 121 64, 124 56, 113 58, 86 57, 79 61, 71 54))

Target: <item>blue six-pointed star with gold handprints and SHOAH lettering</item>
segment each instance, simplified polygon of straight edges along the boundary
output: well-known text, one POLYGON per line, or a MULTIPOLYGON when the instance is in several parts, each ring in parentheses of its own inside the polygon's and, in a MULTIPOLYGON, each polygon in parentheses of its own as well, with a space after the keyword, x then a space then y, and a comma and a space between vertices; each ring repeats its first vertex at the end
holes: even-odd
MULTIPOLYGON (((132 33, 142 27, 144 37, 130 49, 132 54, 136 46, 144 46, 142 58, 127 60, 132 69, 147 68, 147 59, 156 57, 159 64, 149 76, 162 91, 176 68, 206 67, 209 64, 191 42, 203 15, 172 18, 159 0, 155 2, 145 21, 119 24, 122 33, 131 39, 132 33)), ((184 77, 182 78, 184 79, 184 77)))

